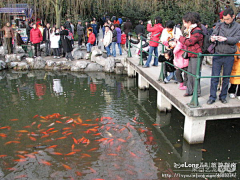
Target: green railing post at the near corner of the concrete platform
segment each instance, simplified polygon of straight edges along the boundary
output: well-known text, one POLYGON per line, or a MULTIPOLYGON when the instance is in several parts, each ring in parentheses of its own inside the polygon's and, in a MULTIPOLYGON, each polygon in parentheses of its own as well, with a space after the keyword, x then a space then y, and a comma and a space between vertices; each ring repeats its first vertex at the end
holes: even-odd
POLYGON ((193 90, 193 96, 191 102, 188 104, 189 107, 196 108, 199 107, 199 102, 198 102, 198 86, 200 85, 200 67, 201 67, 201 58, 202 54, 199 53, 197 55, 197 70, 196 70, 196 78, 195 78, 195 85, 194 85, 194 90, 193 90))

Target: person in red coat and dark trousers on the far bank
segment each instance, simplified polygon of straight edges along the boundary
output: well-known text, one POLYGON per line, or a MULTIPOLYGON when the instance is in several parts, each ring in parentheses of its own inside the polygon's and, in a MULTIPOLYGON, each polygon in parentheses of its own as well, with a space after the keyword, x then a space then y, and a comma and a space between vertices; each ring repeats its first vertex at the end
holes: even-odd
POLYGON ((33 28, 30 31, 30 41, 34 45, 35 55, 34 57, 37 57, 38 55, 41 56, 40 51, 40 42, 43 40, 41 31, 37 28, 36 24, 33 24, 33 28))

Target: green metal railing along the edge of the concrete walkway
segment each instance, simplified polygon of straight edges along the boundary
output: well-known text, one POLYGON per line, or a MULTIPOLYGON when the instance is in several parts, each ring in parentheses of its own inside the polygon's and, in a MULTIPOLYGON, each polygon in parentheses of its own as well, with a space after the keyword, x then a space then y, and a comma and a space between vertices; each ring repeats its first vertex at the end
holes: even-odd
MULTIPOLYGON (((133 35, 131 33, 129 33, 129 36, 136 36, 136 35, 133 35)), ((136 36, 137 37, 137 36, 136 36)), ((128 39, 128 57, 132 57, 132 54, 131 54, 131 46, 137 48, 140 50, 140 60, 139 60, 139 65, 140 66, 143 66, 144 63, 143 63, 143 57, 142 57, 142 53, 145 52, 147 54, 151 54, 149 53, 148 51, 145 51, 143 50, 142 48, 142 40, 143 40, 143 36, 140 36, 140 48, 131 44, 130 40, 128 39)), ((153 40, 149 40, 149 41, 152 41, 152 42, 156 42, 158 43, 159 45, 162 46, 162 54, 164 54, 164 50, 165 50, 165 46, 161 43, 161 42, 158 42, 158 41, 153 41, 153 40)), ((202 54, 202 53, 195 53, 195 52, 192 52, 192 51, 188 51, 186 49, 181 49, 183 51, 186 51, 188 53, 191 53, 191 54, 195 54, 197 55, 197 59, 198 59, 198 62, 197 62, 197 69, 196 69, 196 75, 195 74, 192 74, 188 71, 185 71, 184 69, 182 68, 179 68, 178 66, 175 66, 173 64, 171 64, 170 62, 168 61, 165 61, 165 62, 161 62, 161 70, 160 70, 160 75, 159 75, 159 78, 158 78, 158 81, 160 82, 163 82, 164 80, 164 63, 167 63, 171 66, 174 66, 175 68, 178 68, 179 70, 187 73, 188 75, 190 76, 193 76, 194 79, 195 79, 195 82, 194 82, 194 90, 193 90, 193 96, 192 96, 192 99, 190 101, 190 103, 188 103, 187 105, 191 108, 197 108, 197 107, 200 107, 199 105, 199 101, 198 101, 198 93, 197 93, 197 90, 198 90, 198 86, 199 86, 199 83, 200 83, 200 79, 201 78, 225 78, 225 77, 240 77, 240 75, 235 75, 235 76, 232 76, 232 75, 229 75, 229 76, 201 76, 201 62, 202 62, 202 58, 205 57, 205 56, 240 56, 240 54, 202 54)), ((153 57, 156 57, 155 55, 151 54, 153 57)), ((157 57, 158 58, 158 57, 157 57)))

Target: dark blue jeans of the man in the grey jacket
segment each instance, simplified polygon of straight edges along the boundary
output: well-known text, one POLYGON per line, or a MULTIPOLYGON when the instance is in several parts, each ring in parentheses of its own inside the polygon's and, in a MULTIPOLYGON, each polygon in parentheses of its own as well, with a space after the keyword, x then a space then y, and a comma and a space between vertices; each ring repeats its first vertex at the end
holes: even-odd
MULTIPOLYGON (((219 76, 222 67, 223 67, 223 76, 231 75, 233 62, 234 62, 234 56, 214 56, 213 65, 212 65, 212 76, 219 76)), ((219 95, 219 99, 222 99, 222 100, 226 99, 229 79, 230 79, 229 77, 223 78, 222 90, 219 95)), ((209 99, 211 100, 217 99, 218 82, 219 82, 219 78, 211 78, 211 88, 210 88, 210 97, 209 97, 209 99)))

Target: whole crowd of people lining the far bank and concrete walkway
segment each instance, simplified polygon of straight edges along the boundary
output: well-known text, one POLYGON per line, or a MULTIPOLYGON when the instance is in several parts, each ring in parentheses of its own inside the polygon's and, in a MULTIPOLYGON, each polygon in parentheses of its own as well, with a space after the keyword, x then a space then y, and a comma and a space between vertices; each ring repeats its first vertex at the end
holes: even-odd
MULTIPOLYGON (((67 60, 73 60, 72 50, 74 44, 74 34, 78 37, 78 46, 86 46, 87 52, 90 53, 93 46, 98 45, 101 41, 107 56, 116 57, 116 46, 119 49, 119 55, 123 54, 123 49, 129 46, 129 42, 137 44, 137 47, 142 46, 143 52, 137 49, 137 54, 142 54, 146 61, 143 68, 149 68, 152 59, 152 66, 157 67, 158 62, 168 61, 174 66, 165 63, 165 83, 169 83, 171 79, 175 83, 179 83, 179 89, 185 90, 185 97, 192 96, 194 90, 195 78, 192 75, 180 70, 179 68, 196 75, 198 58, 196 54, 187 53, 183 49, 194 52, 204 53, 202 47, 205 43, 205 37, 209 37, 208 41, 215 46, 216 54, 235 54, 240 53, 240 25, 236 21, 234 11, 227 8, 220 13, 220 20, 213 25, 213 28, 208 29, 206 23, 201 22, 201 17, 196 12, 188 12, 182 17, 182 27, 180 24, 175 24, 169 20, 162 24, 161 17, 156 17, 154 24, 151 20, 147 22, 147 28, 142 20, 133 28, 130 19, 125 22, 121 18, 112 18, 104 16, 101 23, 93 18, 91 22, 79 20, 76 26, 67 19, 65 24, 60 28, 50 26, 49 23, 43 28, 41 24, 28 23, 26 27, 28 41, 32 43, 35 49, 35 57, 41 56, 40 44, 45 43, 45 55, 51 55, 51 49, 54 58, 60 56, 66 57, 67 60), (103 35, 99 37, 99 30, 102 28, 103 35), (76 32, 76 33, 75 33, 76 32), (129 35, 129 32, 134 32, 137 38, 129 35), (150 36, 147 37, 146 33, 150 36), (127 41, 128 40, 128 41, 127 41), (141 43, 140 43, 141 42, 141 43), (164 55, 158 54, 159 44, 165 46, 164 55), (154 54, 154 57, 152 57, 154 54)), ((13 29, 7 23, 1 31, 5 31, 5 43, 8 52, 12 53, 12 41, 14 38, 13 29)), ((19 36, 19 33, 18 33, 19 36)), ((21 38, 17 38, 21 39, 21 38)), ((18 45, 21 43, 18 43, 18 45)), ((240 65, 238 63, 239 56, 214 56, 212 61, 212 76, 219 76, 223 69, 223 76, 239 75, 240 65)), ((211 78, 210 96, 207 104, 213 104, 217 99, 217 89, 219 78, 211 78)), ((222 81, 221 93, 219 100, 222 103, 227 103, 226 97, 229 93, 230 98, 240 100, 240 78, 224 77, 222 81), (229 86, 231 80, 231 87, 229 86)), ((199 81, 198 96, 201 96, 201 85, 199 81)))

